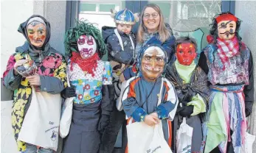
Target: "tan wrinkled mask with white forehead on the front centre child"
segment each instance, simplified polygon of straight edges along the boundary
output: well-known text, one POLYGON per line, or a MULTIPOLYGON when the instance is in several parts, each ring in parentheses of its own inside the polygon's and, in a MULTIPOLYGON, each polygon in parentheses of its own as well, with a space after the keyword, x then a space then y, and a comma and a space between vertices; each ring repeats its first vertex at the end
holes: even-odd
POLYGON ((142 57, 142 75, 149 81, 153 82, 164 71, 165 53, 158 47, 149 47, 142 57))

